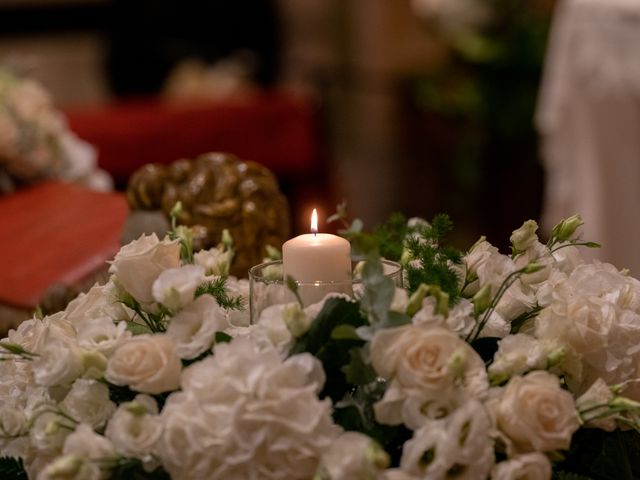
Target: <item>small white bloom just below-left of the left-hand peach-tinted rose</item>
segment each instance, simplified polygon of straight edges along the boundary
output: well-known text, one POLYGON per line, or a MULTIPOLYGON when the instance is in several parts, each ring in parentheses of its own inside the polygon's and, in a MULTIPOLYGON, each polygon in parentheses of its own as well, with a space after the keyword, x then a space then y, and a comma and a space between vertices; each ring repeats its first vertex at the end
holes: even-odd
POLYGON ((96 380, 76 380, 60 406, 73 419, 88 423, 95 429, 106 425, 116 409, 109 400, 109 387, 96 380))

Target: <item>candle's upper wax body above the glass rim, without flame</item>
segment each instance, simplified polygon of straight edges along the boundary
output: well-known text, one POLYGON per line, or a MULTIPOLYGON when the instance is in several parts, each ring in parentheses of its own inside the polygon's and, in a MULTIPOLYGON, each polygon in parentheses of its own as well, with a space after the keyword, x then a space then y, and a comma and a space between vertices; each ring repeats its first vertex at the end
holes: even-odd
POLYGON ((282 264, 298 282, 351 282, 351 245, 328 233, 300 235, 282 246, 282 264))

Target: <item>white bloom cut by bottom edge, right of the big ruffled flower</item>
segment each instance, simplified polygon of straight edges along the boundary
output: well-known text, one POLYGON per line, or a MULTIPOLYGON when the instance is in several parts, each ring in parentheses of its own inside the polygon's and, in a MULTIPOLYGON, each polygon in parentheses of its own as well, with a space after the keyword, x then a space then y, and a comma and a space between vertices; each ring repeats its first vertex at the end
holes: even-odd
POLYGON ((389 455, 370 437, 345 432, 322 454, 319 476, 327 480, 375 480, 389 466, 389 455))

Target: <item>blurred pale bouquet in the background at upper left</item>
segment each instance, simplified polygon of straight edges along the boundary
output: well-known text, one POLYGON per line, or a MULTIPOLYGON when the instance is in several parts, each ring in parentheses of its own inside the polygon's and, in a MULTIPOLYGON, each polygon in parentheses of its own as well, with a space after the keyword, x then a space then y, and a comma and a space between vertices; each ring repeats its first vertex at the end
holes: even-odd
POLYGON ((0 194, 54 179, 112 188, 95 149, 69 130, 46 89, 0 66, 0 194))

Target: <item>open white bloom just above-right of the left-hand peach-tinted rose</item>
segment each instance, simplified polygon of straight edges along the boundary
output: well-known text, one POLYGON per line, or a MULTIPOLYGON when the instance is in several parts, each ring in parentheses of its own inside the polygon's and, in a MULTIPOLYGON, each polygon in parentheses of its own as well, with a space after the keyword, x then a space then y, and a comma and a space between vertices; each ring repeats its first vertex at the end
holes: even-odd
POLYGON ((180 358, 196 358, 211 348, 216 332, 229 327, 226 312, 211 295, 202 295, 180 310, 167 328, 180 358))

